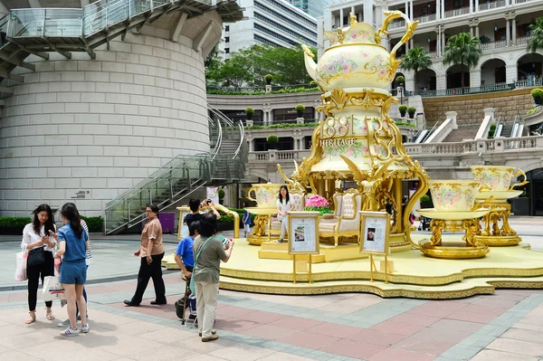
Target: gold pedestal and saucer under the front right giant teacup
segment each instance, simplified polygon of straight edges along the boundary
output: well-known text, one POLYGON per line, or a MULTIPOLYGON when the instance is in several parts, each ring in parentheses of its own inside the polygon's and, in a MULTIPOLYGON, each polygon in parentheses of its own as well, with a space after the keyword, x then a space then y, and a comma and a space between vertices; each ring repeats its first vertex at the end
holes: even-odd
POLYGON ((432 238, 430 242, 420 242, 420 250, 424 255, 432 258, 448 260, 471 260, 484 257, 490 252, 489 247, 476 241, 476 236, 481 234, 481 223, 479 218, 490 214, 490 209, 479 209, 469 212, 441 213, 434 210, 418 210, 425 217, 433 218, 430 224, 432 238), (441 215, 440 219, 436 215, 441 215), (443 247, 442 233, 465 231, 462 241, 466 242, 465 247, 443 247))

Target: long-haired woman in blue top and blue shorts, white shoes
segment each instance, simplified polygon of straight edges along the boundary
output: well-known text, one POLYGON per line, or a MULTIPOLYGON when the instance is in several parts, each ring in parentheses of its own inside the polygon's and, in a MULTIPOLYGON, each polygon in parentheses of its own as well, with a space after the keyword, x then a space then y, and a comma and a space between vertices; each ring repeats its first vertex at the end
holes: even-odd
POLYGON ((61 210, 64 226, 58 233, 52 233, 59 244, 59 251, 54 258, 62 257, 61 277, 68 300, 68 318, 70 326, 61 332, 62 336, 77 336, 80 332, 89 332, 87 324, 87 303, 83 297, 83 287, 87 280, 86 252, 89 249, 89 237, 83 231, 81 218, 75 204, 64 204, 61 210), (81 314, 81 329, 77 328, 75 303, 81 314))

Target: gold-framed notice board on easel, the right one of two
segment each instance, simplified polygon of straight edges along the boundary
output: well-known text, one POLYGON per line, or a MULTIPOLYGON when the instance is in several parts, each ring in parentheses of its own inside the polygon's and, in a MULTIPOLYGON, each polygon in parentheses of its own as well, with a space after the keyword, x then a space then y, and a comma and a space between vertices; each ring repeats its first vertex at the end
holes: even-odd
POLYGON ((360 252, 388 255, 390 214, 360 212, 360 252))

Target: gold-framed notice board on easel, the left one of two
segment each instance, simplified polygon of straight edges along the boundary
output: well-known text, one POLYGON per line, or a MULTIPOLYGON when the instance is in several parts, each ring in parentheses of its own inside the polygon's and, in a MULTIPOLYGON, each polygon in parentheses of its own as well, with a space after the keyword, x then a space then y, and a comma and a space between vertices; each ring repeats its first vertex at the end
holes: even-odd
POLYGON ((319 212, 289 212, 289 254, 319 254, 319 212))

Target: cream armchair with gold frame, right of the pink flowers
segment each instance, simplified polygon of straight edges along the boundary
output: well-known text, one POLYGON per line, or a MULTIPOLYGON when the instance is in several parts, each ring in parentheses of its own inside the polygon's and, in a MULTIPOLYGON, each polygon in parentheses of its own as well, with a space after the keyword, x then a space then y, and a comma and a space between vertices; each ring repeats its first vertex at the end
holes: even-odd
POLYGON ((334 218, 321 219, 319 235, 334 237, 334 245, 338 247, 339 237, 356 236, 360 242, 360 214, 362 210, 362 195, 356 189, 334 195, 336 210, 334 218))

